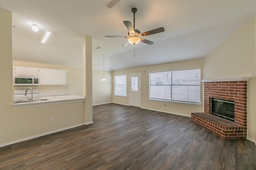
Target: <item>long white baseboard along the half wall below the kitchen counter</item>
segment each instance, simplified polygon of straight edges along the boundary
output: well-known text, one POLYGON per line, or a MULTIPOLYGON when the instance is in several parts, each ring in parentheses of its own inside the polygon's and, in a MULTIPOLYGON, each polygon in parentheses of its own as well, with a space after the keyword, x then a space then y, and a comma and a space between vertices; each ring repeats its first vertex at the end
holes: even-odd
POLYGON ((19 143, 19 142, 22 142, 22 141, 27 141, 29 139, 34 139, 34 138, 41 137, 41 136, 44 136, 44 135, 49 135, 49 134, 60 132, 60 131, 64 131, 64 130, 67 130, 67 129, 72 129, 74 127, 78 127, 78 126, 82 126, 82 125, 88 125, 88 124, 91 124, 91 123, 93 123, 93 122, 91 121, 91 122, 88 122, 88 123, 81 123, 81 124, 78 124, 78 125, 74 125, 74 126, 70 126, 70 127, 64 127, 62 129, 57 129, 57 130, 54 130, 54 131, 50 131, 50 132, 46 132, 46 133, 41 133, 41 134, 34 135, 34 136, 31 136, 31 137, 26 137, 26 138, 19 139, 19 140, 16 140, 16 141, 12 141, 12 142, 1 144, 0 147, 5 147, 5 146, 8 146, 8 145, 12 145, 14 143, 19 143))

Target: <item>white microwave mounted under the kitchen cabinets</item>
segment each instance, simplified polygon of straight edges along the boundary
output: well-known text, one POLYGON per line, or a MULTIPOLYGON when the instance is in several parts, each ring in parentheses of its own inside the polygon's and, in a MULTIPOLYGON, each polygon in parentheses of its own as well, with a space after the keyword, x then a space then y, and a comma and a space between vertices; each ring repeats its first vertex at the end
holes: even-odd
POLYGON ((38 86, 38 76, 14 76, 14 86, 38 86))

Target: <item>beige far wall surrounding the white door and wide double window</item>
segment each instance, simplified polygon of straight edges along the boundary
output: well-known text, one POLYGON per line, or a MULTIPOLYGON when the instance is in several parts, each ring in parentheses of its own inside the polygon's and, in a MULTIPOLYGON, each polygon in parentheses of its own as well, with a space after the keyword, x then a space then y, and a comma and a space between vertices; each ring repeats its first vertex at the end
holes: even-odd
MULTIPOLYGON (((126 74, 127 84, 128 84, 129 73, 141 72, 141 89, 142 89, 141 107, 142 108, 152 109, 157 111, 164 111, 167 113, 175 113, 178 115, 185 115, 185 116, 191 116, 191 112, 203 112, 204 111, 203 105, 180 104, 180 103, 174 103, 174 102, 162 102, 162 101, 155 101, 155 100, 148 99, 149 98, 148 74, 150 72, 181 70, 181 69, 187 69, 187 68, 202 68, 202 67, 203 67, 203 60, 200 59, 200 60, 193 60, 193 61, 184 61, 184 62, 177 62, 177 63, 168 63, 168 64, 160 64, 160 65, 154 65, 154 66, 113 71, 112 72, 112 80, 113 80, 112 101, 118 104, 124 104, 124 105, 129 104, 128 97, 114 96, 114 76, 126 74), (164 104, 166 104, 166 106, 164 106, 164 104)), ((201 74, 202 74, 202 70, 201 70, 201 74)), ((128 87, 127 87, 127 96, 128 96, 128 87)), ((201 93, 201 104, 203 104, 202 93, 201 93)))

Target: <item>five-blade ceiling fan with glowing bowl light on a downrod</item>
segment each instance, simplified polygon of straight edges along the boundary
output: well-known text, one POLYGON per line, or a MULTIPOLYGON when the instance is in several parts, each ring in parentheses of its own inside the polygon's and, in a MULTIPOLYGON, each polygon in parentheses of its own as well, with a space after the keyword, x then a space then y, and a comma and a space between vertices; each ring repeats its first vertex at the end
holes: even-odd
POLYGON ((140 41, 143 42, 143 43, 146 43, 148 45, 152 45, 154 43, 153 41, 149 41, 149 40, 144 39, 142 37, 147 36, 147 35, 160 33, 160 32, 164 32, 164 28, 160 27, 160 28, 152 29, 150 31, 146 31, 144 33, 140 33, 140 30, 135 29, 135 13, 136 12, 137 12, 137 9, 132 8, 133 27, 132 27, 132 23, 130 21, 124 21, 124 25, 128 29, 128 36, 108 36, 108 35, 105 35, 105 37, 124 37, 124 38, 128 38, 128 41, 123 45, 123 47, 127 47, 129 45, 129 43, 134 44, 134 45, 138 44, 140 41))

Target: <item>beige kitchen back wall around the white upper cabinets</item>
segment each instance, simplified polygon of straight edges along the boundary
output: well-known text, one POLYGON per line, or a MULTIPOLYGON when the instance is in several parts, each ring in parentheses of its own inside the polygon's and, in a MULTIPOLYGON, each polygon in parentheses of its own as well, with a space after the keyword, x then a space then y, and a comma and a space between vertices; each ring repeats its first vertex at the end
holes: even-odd
MULTIPOLYGON (((82 68, 52 65, 52 64, 42 64, 42 63, 30 63, 30 62, 24 62, 24 61, 13 61, 13 65, 67 70, 67 85, 58 85, 58 86, 44 85, 44 86, 34 86, 33 88, 36 88, 38 89, 39 92, 44 92, 44 93, 65 92, 70 95, 78 95, 78 96, 83 95, 83 69, 82 68), (61 89, 59 89, 59 86, 61 89)), ((14 86, 13 88, 24 89, 24 86, 14 86)))

